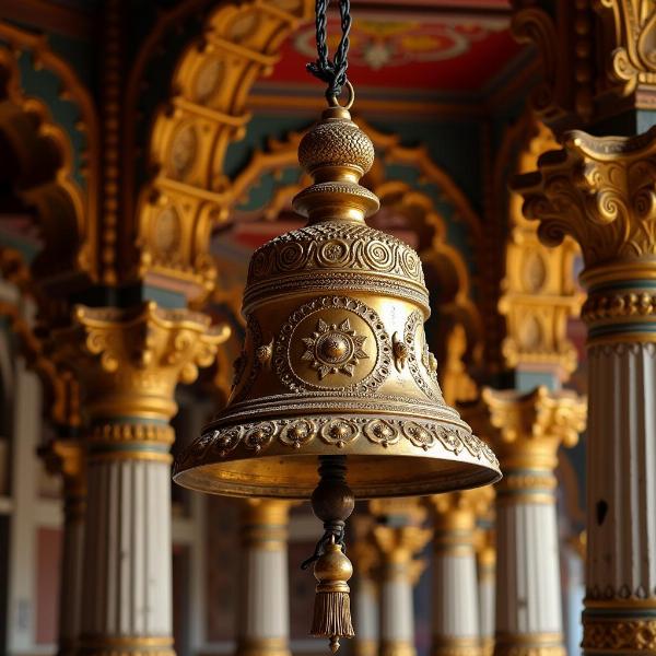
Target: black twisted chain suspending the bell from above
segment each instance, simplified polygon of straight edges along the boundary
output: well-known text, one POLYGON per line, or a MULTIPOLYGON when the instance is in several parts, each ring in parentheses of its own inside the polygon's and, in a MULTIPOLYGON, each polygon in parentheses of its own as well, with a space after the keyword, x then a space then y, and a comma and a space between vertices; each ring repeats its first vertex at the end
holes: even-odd
POLYGON ((349 32, 351 31, 351 0, 339 0, 339 15, 341 17, 342 36, 335 52, 332 61, 328 58, 326 44, 326 15, 330 0, 316 0, 316 32, 317 32, 317 60, 307 65, 307 70, 315 77, 326 82, 326 97, 328 102, 339 97, 342 86, 347 83, 347 69, 349 68, 349 32))

